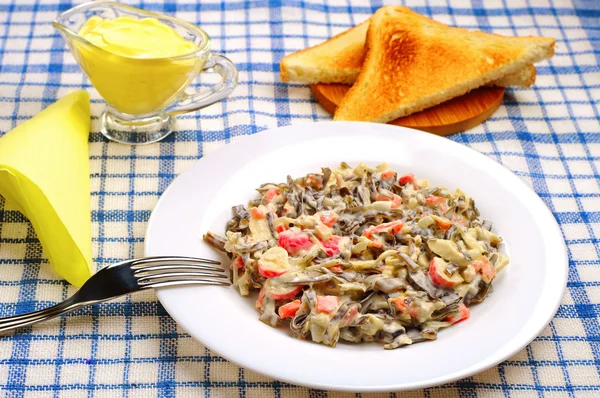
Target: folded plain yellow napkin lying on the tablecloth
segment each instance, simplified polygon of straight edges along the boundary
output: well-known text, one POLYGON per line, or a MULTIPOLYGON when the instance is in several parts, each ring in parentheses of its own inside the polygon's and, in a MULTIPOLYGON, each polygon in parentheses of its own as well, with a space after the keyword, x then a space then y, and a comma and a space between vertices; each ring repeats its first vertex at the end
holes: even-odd
POLYGON ((90 97, 69 93, 0 138, 0 195, 29 218, 54 270, 91 275, 90 97))

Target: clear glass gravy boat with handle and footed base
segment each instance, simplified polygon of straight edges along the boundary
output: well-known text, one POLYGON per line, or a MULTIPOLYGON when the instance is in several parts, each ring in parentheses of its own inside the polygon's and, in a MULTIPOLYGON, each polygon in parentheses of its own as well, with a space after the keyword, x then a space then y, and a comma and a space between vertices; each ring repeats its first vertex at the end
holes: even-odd
POLYGON ((235 65, 222 55, 211 54, 206 32, 176 18, 110 1, 94 1, 62 13, 52 25, 107 102, 101 116, 101 132, 113 141, 125 144, 159 141, 173 131, 175 115, 212 105, 226 98, 237 85, 235 65), (92 16, 156 18, 193 42, 198 50, 166 58, 113 54, 77 34, 92 16), (222 80, 212 87, 186 93, 189 84, 206 71, 218 73, 222 80))

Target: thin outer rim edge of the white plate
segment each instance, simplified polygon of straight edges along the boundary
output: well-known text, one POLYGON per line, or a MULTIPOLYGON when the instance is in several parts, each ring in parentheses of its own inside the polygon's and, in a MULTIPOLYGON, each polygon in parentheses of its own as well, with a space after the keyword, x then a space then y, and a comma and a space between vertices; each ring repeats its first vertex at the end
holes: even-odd
MULTIPOLYGON (((433 135, 433 134, 429 134, 429 133, 424 133, 422 131, 419 130, 415 130, 415 129, 411 129, 411 128, 407 128, 407 127, 401 127, 401 126, 389 126, 389 125, 384 125, 384 124, 377 124, 377 123, 367 123, 367 122, 333 122, 333 121, 327 121, 327 122, 303 122, 303 123, 296 123, 293 125, 287 125, 287 126, 280 126, 280 127, 275 127, 275 128, 270 128, 270 129, 266 129, 263 130, 259 133, 255 133, 252 135, 246 135, 243 137, 238 138, 235 142, 230 142, 227 143, 225 146, 207 154, 207 155, 203 155, 200 159, 197 159, 194 164, 192 166, 190 166, 187 170, 185 170, 183 173, 181 173, 180 175, 178 175, 170 184, 169 186, 165 189, 165 191, 160 195, 158 201, 156 202, 154 209, 152 210, 152 213, 150 215, 150 218, 148 220, 148 225, 146 228, 146 234, 145 234, 145 239, 144 239, 144 253, 145 255, 149 255, 149 247, 146 244, 149 240, 149 236, 151 234, 152 231, 152 226, 154 224, 154 220, 156 219, 156 214, 157 211, 159 210, 159 208, 161 207, 161 205, 164 203, 165 198, 167 197, 167 195, 169 194, 169 192, 172 190, 173 186, 177 183, 178 180, 180 180, 180 178, 188 173, 192 173, 194 169, 199 168, 199 164, 203 164, 206 162, 205 159, 212 159, 213 157, 218 156, 221 152, 226 151, 227 148, 230 148, 232 146, 236 146, 239 147, 240 145, 243 145, 246 141, 251 141, 251 140, 256 140, 256 139, 265 139, 268 138, 267 136, 269 134, 284 134, 283 132, 281 132, 282 130, 295 130, 297 129, 299 126, 304 126, 304 125, 311 125, 311 126, 319 126, 318 128, 323 128, 326 129, 327 126, 337 126, 336 128, 342 127, 344 124, 351 124, 351 125, 356 125, 356 124, 360 124, 360 125, 367 125, 365 127, 371 127, 371 128, 383 128, 383 129, 388 129, 388 128, 392 128, 394 129, 394 131, 398 132, 398 136, 400 137, 399 140, 401 140, 402 137, 402 131, 401 130, 405 130, 410 132, 410 134, 423 134, 426 140, 427 139, 432 139, 434 141, 438 141, 438 142, 442 142, 445 141, 446 145, 449 146, 455 146, 455 147, 461 147, 464 148, 464 150, 467 150, 469 152, 471 152, 473 154, 473 156, 475 157, 480 157, 480 158, 485 158, 486 161, 491 161, 493 163, 495 163, 497 166, 501 166, 502 169, 504 169, 505 173, 509 173, 512 175, 512 177, 514 177, 515 181, 518 181, 519 184, 521 184, 521 187, 523 189, 526 189, 527 191, 529 191, 529 193, 533 194, 532 197, 534 198, 533 200, 537 201, 541 207, 542 207, 542 212, 545 214, 545 217, 547 217, 547 220, 551 222, 553 229, 555 230, 554 232, 558 233, 558 237, 560 239, 560 254, 561 254, 561 259, 560 262, 563 264, 563 267, 560 268, 560 281, 561 281, 561 288, 559 290, 557 290, 557 292, 560 292, 560 294, 555 295, 556 300, 554 305, 552 306, 551 311, 548 313, 548 315, 544 318, 544 322, 540 322, 540 325, 535 328, 535 333, 532 333, 534 330, 531 331, 531 333, 527 333, 527 339, 523 339, 523 341, 521 341, 519 344, 515 344, 513 345, 513 348, 506 351, 504 354, 500 354, 500 355, 493 355, 491 356, 491 359, 486 359, 486 360, 482 360, 479 361, 473 365, 471 365, 468 371, 464 371, 464 370, 458 370, 458 371, 454 371, 452 373, 448 373, 445 376, 440 376, 434 379, 427 379, 424 381, 417 381, 417 382, 411 382, 411 383, 401 383, 401 384, 390 384, 390 385, 376 385, 376 386, 361 386, 361 387, 348 387, 348 386, 344 386, 344 385, 337 385, 337 384, 323 384, 323 383, 314 383, 314 382, 310 382, 310 381, 306 381, 306 380, 298 380, 298 379, 292 379, 292 378, 286 378, 286 377, 282 377, 279 374, 276 374, 276 372, 271 372, 270 370, 265 370, 265 369, 261 369, 261 368, 257 368, 255 366, 252 366, 250 364, 244 363, 244 361, 238 361, 238 360, 234 360, 231 359, 228 355, 224 355, 221 352, 219 352, 218 350, 214 349, 212 347, 212 345, 210 343, 207 343, 205 341, 202 341, 201 339, 197 338, 193 333, 191 333, 186 327, 184 327, 182 322, 178 321, 179 316, 175 313, 172 313, 168 306, 165 305, 165 301, 166 301, 166 297, 163 296, 165 294, 168 294, 167 292, 169 290, 177 290, 179 288, 161 288, 161 289, 157 289, 156 290, 156 296, 158 298, 158 300, 160 301, 161 305, 163 306, 163 308, 165 308, 165 310, 167 311, 167 313, 169 314, 169 316, 171 316, 175 322, 178 324, 179 327, 181 327, 186 333, 188 333, 192 338, 194 338, 195 340, 199 341, 202 345, 204 345, 205 347, 207 347, 208 349, 210 349, 211 351, 213 351, 215 354, 222 356, 223 358, 227 359, 228 361, 242 367, 242 368, 247 368, 247 369, 251 369, 259 374, 265 375, 267 377, 273 378, 275 380, 279 380, 279 381, 284 381, 293 385, 299 385, 299 386, 304 386, 304 387, 309 387, 309 388, 317 388, 317 389, 324 389, 324 390, 331 390, 331 391, 346 391, 346 392, 391 392, 391 391, 407 391, 407 390, 415 390, 415 389, 420 389, 420 388, 428 388, 428 387, 432 387, 432 386, 438 386, 441 384, 446 384, 446 383, 451 383, 454 382, 456 380, 459 379, 463 379, 465 377, 470 377, 474 374, 480 373, 484 370, 490 369, 496 365, 498 365, 499 363, 505 361, 506 359, 510 358, 511 356, 513 356, 514 354, 516 354, 517 352, 519 352, 520 350, 522 350, 524 347, 526 347, 528 344, 530 344, 537 336, 539 336, 539 334, 543 331, 543 329, 552 321, 552 319, 554 318, 556 312, 558 311, 558 308, 560 307, 560 304, 562 303, 562 299, 564 297, 564 294, 566 292, 566 288, 567 288, 567 282, 568 282, 568 271, 569 271, 569 258, 568 258, 568 249, 566 246, 566 243, 564 241, 564 235, 562 234, 562 230, 560 229, 559 224, 556 221, 556 218, 554 217, 554 214, 550 211, 550 209, 548 208, 548 206, 546 205, 546 203, 540 198, 540 196, 531 188, 529 187, 521 178, 519 178, 519 176, 517 176, 515 173, 512 172, 512 170, 510 170, 509 168, 507 168, 505 165, 503 165, 502 163, 499 163, 497 161, 495 161, 494 159, 484 155, 483 153, 467 146, 464 144, 461 144, 459 142, 455 142, 452 140, 449 140, 447 138, 444 137, 440 137, 437 135, 433 135), (526 341, 525 341, 526 340, 526 341)), ((293 139, 293 138, 292 138, 293 139)), ((554 270, 556 273, 556 270, 554 270)), ((558 283, 557 283, 558 285, 558 283)), ((501 347, 505 347, 507 344, 504 344, 501 347)))

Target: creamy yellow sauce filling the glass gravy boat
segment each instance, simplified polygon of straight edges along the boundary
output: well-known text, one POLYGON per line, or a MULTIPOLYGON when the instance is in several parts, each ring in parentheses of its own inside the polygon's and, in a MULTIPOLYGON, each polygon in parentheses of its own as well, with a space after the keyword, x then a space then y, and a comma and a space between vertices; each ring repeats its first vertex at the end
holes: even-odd
POLYGON ((172 103, 202 69, 198 46, 155 18, 91 17, 74 53, 100 95, 118 111, 153 113, 172 103))

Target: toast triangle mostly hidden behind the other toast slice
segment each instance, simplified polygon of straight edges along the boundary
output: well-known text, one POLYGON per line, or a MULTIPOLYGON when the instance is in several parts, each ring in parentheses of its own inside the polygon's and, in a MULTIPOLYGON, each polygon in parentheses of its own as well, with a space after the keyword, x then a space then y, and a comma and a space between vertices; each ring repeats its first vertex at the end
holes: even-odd
MULTIPOLYGON (((286 55, 280 64, 281 80, 307 84, 354 83, 367 53, 368 27, 367 20, 321 44, 286 55)), ((529 87, 535 82, 535 74, 535 67, 528 65, 491 85, 529 87)))

